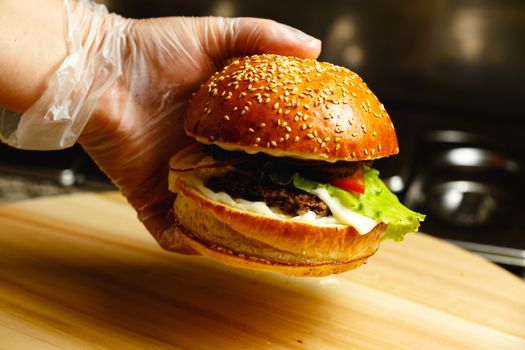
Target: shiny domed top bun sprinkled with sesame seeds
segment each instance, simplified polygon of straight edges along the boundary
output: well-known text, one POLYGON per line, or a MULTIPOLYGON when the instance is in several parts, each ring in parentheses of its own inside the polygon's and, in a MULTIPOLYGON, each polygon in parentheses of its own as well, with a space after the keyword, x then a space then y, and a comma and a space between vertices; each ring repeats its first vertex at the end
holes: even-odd
POLYGON ((247 153, 335 162, 399 152, 384 106, 347 68, 256 55, 235 60, 192 96, 188 135, 247 153))

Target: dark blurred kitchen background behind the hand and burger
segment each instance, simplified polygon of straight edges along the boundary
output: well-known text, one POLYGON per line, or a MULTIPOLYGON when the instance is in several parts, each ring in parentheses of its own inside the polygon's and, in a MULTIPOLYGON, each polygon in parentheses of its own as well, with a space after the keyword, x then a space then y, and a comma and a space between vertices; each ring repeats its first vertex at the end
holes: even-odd
MULTIPOLYGON (((150 16, 271 18, 323 40, 387 106, 399 156, 376 162, 422 231, 525 277, 525 1, 108 0, 150 16)), ((80 147, 0 146, 0 203, 112 186, 80 147)))

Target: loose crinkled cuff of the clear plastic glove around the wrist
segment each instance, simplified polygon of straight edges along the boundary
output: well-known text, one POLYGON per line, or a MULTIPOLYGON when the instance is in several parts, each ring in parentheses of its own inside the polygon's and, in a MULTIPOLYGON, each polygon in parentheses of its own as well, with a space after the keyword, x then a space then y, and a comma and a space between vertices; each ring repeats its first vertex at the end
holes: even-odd
POLYGON ((46 90, 2 141, 24 149, 72 146, 100 97, 122 75, 127 20, 87 0, 64 1, 68 55, 46 90))

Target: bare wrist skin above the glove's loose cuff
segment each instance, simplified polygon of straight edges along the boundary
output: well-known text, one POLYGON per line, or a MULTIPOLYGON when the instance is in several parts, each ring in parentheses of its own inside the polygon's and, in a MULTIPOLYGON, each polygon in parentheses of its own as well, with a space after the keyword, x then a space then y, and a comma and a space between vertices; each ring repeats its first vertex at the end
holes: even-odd
POLYGON ((67 55, 60 0, 0 1, 0 106, 23 112, 67 55), (16 83, 15 83, 16 82, 16 83))

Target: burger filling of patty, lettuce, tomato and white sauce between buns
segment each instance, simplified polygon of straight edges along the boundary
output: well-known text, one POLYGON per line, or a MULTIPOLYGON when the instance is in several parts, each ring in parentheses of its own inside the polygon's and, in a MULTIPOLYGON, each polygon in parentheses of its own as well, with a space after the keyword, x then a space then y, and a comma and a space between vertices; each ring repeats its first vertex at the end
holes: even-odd
POLYGON ((388 225, 385 238, 394 240, 416 232, 424 219, 399 202, 369 163, 247 155, 215 146, 205 152, 212 164, 227 165, 228 170, 197 175, 191 170, 210 167, 201 159, 189 168, 188 179, 208 198, 237 209, 322 225, 351 225, 360 234, 383 222, 388 225))

